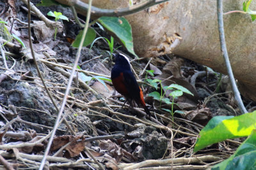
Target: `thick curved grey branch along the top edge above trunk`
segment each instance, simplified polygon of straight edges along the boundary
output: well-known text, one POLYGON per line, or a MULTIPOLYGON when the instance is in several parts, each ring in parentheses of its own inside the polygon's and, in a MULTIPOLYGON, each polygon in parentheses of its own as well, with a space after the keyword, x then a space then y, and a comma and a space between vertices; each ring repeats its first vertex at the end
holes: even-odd
MULTIPOLYGON (((69 5, 69 6, 74 6, 77 10, 83 11, 83 15, 86 15, 89 5, 77 0, 77 1, 63 1, 63 0, 55 0, 58 3, 69 5)), ((150 6, 154 6, 155 4, 160 4, 164 3, 169 0, 148 0, 148 1, 143 1, 142 3, 136 4, 131 7, 127 8, 121 8, 121 9, 115 9, 115 10, 108 10, 108 9, 102 9, 102 8, 97 8, 95 6, 92 6, 92 15, 93 17, 122 17, 124 15, 129 15, 132 13, 136 13, 141 10, 145 10, 150 6)))

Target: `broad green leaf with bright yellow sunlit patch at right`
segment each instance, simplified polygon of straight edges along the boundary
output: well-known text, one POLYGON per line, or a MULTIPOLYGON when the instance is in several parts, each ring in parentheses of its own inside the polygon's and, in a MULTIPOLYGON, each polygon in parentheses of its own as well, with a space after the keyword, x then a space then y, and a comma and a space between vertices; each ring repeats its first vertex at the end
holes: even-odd
POLYGON ((200 131, 200 138, 196 141, 194 152, 225 139, 248 136, 253 129, 256 129, 256 111, 232 118, 214 117, 200 131), (221 121, 221 119, 225 120, 221 121))

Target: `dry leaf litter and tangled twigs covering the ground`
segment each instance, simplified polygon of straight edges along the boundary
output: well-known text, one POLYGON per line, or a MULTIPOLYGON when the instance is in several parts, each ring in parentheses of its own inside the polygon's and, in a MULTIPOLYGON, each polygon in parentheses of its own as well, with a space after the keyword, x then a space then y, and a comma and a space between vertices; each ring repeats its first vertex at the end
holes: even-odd
MULTIPOLYGON (((8 2, 12 4, 10 8, 13 8, 13 1, 8 2)), ((1 10, 4 5, 0 3, 1 10)), ((17 2, 16 6, 19 5, 25 6, 17 2)), ((70 11, 66 8, 61 9, 63 15, 68 16, 67 13, 70 11)), ((40 8, 40 10, 44 15, 47 10, 50 11, 49 8, 46 10, 40 8)), ((17 13, 18 16, 26 16, 24 11, 17 13)), ((9 15, 1 16, 8 26, 10 26, 9 15)), ((22 17, 19 20, 22 20, 22 17)), ((35 24, 41 22, 36 18, 33 20, 35 24)), ((67 22, 63 22, 63 25, 63 32, 67 36, 77 34, 79 31, 75 29, 72 32, 66 29, 67 22)), ((14 22, 13 29, 17 32, 25 32, 27 28, 20 22, 14 22)), ((108 36, 97 25, 94 29, 101 36, 108 36)), ((35 26, 33 46, 45 81, 56 103, 60 105, 76 48, 70 46, 60 30, 56 41, 50 36, 54 30, 50 31, 51 33, 44 31, 49 32, 47 29, 39 29, 35 26)), ((1 155, 11 166, 18 169, 22 167, 38 169, 57 111, 37 76, 35 65, 31 62, 28 37, 20 34, 20 38, 26 44, 26 51, 22 48, 23 51, 17 53, 12 51, 12 46, 4 47, 6 52, 14 52, 19 57, 6 60, 9 67, 13 66, 10 70, 12 73, 8 70, 6 72, 1 67, 0 77, 3 78, 0 83, 0 149, 1 155), (22 57, 21 54, 24 56, 22 57), (13 65, 14 60, 15 65, 13 65)), ((10 43, 19 45, 17 41, 10 43)), ((111 66, 109 66, 107 49, 108 45, 100 40, 95 42, 92 50, 83 48, 83 56, 79 61, 81 69, 77 71, 85 76, 109 78, 111 66), (97 57, 100 55, 102 57, 97 57)), ((120 48, 120 51, 127 53, 123 48, 120 48)), ((135 59, 132 62, 137 74, 145 69, 147 60, 135 59)), ((2 66, 4 63, 1 61, 0 64, 2 66)), ((140 76, 140 86, 146 94, 161 90, 159 83, 157 90, 155 87, 150 87, 145 80, 146 76, 152 80, 156 78, 162 80, 164 86, 173 83, 182 85, 193 93, 194 96, 185 94, 174 99, 174 109, 185 114, 175 113, 172 121, 170 113, 162 110, 162 108, 170 110, 172 104, 161 103, 145 95, 145 101, 154 117, 152 122, 145 117, 136 116, 143 111, 140 108, 131 109, 129 105, 124 104, 124 97, 115 92, 109 81, 91 78, 84 82, 81 81, 81 76, 74 78, 65 113, 68 124, 72 127, 72 131, 76 132, 76 136, 70 135, 67 127, 60 124, 51 145, 51 152, 47 156, 48 169, 99 169, 92 156, 103 167, 109 169, 159 166, 173 168, 190 166, 204 169, 227 159, 234 153, 243 139, 224 141, 192 154, 203 125, 207 124, 214 115, 234 114, 237 109, 234 108, 234 104, 228 105, 232 103, 232 96, 225 85, 221 86, 222 94, 214 92, 218 86, 217 73, 193 77, 198 71, 204 71, 204 66, 172 55, 163 55, 150 60, 146 69, 154 70, 153 76, 146 75, 145 72, 140 76), (191 85, 191 81, 195 81, 195 85, 191 85), (92 155, 85 152, 84 147, 88 148, 92 155)), ((163 91, 164 97, 172 99, 169 96, 172 90, 163 89, 163 91)))

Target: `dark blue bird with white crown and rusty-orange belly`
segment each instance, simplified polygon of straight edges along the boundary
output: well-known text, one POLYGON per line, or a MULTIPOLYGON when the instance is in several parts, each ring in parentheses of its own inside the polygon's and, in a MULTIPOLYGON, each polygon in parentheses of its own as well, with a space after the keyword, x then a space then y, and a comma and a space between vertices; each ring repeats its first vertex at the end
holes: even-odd
POLYGON ((135 101, 138 106, 142 106, 150 118, 150 111, 144 101, 143 92, 131 71, 128 57, 122 53, 113 53, 113 56, 115 65, 111 70, 111 80, 115 90, 125 97, 130 106, 132 106, 132 101, 135 101))

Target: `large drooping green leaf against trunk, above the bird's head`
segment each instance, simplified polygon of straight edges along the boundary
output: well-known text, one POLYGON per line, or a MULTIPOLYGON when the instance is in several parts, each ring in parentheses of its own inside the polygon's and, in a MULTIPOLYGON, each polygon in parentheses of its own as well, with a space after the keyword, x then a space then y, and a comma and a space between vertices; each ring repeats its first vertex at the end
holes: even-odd
POLYGON ((115 34, 128 52, 138 57, 133 49, 131 25, 124 17, 100 17, 97 21, 105 29, 115 34))

